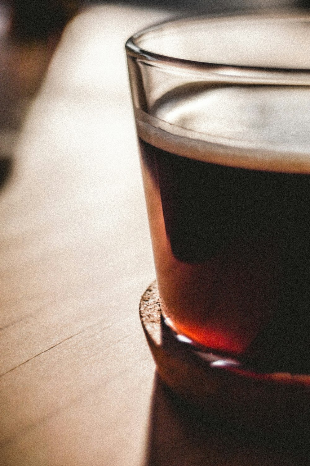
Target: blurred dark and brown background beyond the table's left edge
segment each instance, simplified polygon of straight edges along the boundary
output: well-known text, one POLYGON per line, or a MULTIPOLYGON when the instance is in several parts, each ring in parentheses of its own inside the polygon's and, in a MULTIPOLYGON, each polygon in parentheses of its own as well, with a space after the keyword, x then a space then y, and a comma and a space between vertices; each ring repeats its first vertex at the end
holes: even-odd
POLYGON ((66 23, 79 0, 0 0, 0 189, 66 23))

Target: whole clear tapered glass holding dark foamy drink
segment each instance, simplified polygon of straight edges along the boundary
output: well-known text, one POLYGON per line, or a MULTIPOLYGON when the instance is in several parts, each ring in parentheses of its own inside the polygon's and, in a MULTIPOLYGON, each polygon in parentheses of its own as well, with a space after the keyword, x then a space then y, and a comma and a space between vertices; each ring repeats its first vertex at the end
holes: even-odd
POLYGON ((310 16, 171 21, 126 51, 165 322, 310 374, 310 16))

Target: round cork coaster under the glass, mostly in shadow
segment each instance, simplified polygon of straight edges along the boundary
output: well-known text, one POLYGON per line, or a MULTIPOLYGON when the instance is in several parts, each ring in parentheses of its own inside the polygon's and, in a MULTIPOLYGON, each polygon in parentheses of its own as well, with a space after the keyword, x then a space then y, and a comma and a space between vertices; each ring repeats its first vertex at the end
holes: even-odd
POLYGON ((139 310, 158 373, 180 397, 246 428, 310 427, 309 375, 257 374, 211 365, 164 324, 156 281, 145 290, 139 310))

